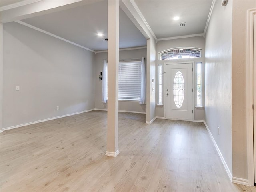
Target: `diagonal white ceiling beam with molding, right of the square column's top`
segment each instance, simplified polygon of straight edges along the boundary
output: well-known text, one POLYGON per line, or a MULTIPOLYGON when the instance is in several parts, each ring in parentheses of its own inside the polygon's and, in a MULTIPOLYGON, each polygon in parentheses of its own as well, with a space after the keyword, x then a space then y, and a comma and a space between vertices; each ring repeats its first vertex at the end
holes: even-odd
POLYGON ((140 9, 138 8, 134 0, 120 0, 119 6, 146 39, 154 39, 155 41, 157 41, 156 35, 150 28, 148 22, 140 12, 140 9))

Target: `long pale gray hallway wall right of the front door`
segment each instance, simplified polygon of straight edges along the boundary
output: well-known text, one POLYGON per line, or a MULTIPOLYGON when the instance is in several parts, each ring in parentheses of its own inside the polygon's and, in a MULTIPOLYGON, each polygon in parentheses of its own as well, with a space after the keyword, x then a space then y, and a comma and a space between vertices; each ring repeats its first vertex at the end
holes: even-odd
POLYGON ((232 1, 216 0, 205 36, 205 122, 232 174, 231 61, 232 1))

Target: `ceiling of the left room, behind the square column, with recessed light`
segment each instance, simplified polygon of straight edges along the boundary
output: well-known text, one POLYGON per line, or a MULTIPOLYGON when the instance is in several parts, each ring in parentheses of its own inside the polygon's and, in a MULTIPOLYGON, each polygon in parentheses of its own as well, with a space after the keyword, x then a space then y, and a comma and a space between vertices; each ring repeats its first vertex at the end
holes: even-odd
MULTIPOLYGON (((119 10, 119 47, 146 46, 146 38, 122 9, 119 10)), ((108 43, 103 40, 103 38, 108 38, 108 4, 106 0, 22 21, 94 51, 108 48, 108 43), (103 33, 104 36, 98 37, 98 32, 103 33)))

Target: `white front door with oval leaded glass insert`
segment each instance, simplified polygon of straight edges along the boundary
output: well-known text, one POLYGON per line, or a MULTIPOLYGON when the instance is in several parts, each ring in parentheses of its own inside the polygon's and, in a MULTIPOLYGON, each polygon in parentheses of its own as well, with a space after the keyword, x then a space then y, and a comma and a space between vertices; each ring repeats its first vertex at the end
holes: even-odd
POLYGON ((166 64, 166 118, 194 120, 193 64, 166 64))

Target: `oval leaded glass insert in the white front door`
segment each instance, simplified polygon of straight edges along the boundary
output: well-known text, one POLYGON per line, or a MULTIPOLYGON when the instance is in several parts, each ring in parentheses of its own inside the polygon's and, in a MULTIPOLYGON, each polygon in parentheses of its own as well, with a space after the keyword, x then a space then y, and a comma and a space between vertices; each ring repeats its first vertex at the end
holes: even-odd
POLYGON ((182 72, 177 71, 173 82, 173 97, 177 108, 182 106, 185 94, 184 78, 182 72))

